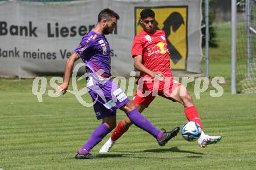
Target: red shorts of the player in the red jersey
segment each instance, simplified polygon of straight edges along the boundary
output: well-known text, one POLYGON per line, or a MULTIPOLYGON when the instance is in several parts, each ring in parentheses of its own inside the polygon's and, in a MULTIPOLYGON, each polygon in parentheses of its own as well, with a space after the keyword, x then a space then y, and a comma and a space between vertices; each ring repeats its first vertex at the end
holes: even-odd
POLYGON ((158 95, 176 102, 172 97, 170 97, 170 94, 180 85, 181 84, 179 82, 173 81, 172 79, 169 82, 158 81, 148 83, 144 81, 143 84, 142 82, 138 83, 137 91, 133 98, 133 103, 138 105, 144 104, 146 107, 148 107, 158 95))

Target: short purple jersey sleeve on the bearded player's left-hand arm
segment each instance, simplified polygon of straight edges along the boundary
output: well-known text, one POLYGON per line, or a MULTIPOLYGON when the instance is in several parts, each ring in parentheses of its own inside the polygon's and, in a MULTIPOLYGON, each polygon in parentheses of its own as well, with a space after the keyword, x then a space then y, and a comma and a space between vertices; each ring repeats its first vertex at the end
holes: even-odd
MULTIPOLYGON (((92 37, 92 36, 91 36, 92 37)), ((79 46, 74 50, 74 53, 79 55, 81 59, 86 59, 86 56, 90 52, 90 50, 93 48, 94 45, 94 39, 91 39, 91 37, 85 36, 81 39, 81 42, 79 46)))

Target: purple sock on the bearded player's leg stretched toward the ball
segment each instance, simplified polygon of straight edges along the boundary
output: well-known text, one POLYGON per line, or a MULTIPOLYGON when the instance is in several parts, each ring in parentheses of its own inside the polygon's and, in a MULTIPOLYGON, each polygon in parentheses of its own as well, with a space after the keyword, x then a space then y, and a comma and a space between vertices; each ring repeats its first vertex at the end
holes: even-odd
POLYGON ((154 136, 155 139, 159 140, 162 138, 163 132, 158 130, 154 125, 151 124, 150 121, 144 118, 140 114, 140 112, 138 112, 137 109, 134 109, 128 112, 127 116, 130 118, 130 120, 133 122, 134 125, 138 126, 138 128, 141 128, 144 131, 147 131, 152 136, 154 136))

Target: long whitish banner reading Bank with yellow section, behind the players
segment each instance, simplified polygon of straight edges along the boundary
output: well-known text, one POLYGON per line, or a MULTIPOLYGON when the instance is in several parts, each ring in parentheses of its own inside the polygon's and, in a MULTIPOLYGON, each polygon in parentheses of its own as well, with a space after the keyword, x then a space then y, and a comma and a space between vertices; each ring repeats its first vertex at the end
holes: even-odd
POLYGON ((62 75, 67 57, 95 26, 99 11, 110 8, 120 15, 117 29, 106 36, 112 75, 129 77, 131 44, 141 30, 138 15, 147 7, 155 11, 158 28, 167 31, 173 70, 201 73, 200 6, 200 0, 0 2, 0 76, 62 75))

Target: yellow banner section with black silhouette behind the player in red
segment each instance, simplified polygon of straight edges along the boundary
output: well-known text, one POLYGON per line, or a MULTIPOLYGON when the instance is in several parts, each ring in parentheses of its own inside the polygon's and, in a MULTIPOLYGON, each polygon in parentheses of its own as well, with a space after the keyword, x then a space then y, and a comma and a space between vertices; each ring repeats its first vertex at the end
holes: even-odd
MULTIPOLYGON (((145 8, 135 8, 136 35, 143 30, 140 26, 140 12, 145 8)), ((170 51, 170 66, 173 70, 186 70, 188 53, 187 6, 162 6, 151 9, 155 12, 157 29, 165 31, 166 41, 170 51)))

